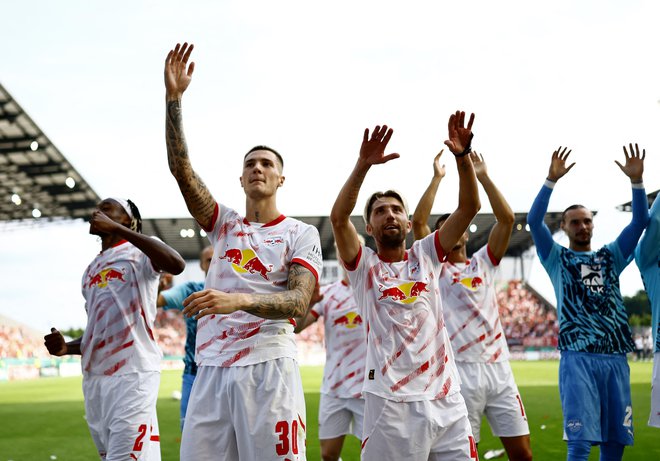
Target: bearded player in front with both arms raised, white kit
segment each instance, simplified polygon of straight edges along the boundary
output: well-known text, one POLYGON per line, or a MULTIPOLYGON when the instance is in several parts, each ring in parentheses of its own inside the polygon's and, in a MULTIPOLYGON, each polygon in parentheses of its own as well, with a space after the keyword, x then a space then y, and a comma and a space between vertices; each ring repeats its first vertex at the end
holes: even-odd
POLYGON ((456 156, 460 187, 457 209, 442 232, 406 250, 408 208, 396 191, 367 201, 366 231, 377 252, 360 246, 350 214, 372 166, 398 158, 385 155, 392 129, 365 130, 360 154, 330 215, 339 256, 348 270, 367 325, 367 361, 362 459, 477 459, 467 409, 442 315, 438 277, 446 254, 479 210, 470 152, 474 115, 449 119, 445 144, 456 156))

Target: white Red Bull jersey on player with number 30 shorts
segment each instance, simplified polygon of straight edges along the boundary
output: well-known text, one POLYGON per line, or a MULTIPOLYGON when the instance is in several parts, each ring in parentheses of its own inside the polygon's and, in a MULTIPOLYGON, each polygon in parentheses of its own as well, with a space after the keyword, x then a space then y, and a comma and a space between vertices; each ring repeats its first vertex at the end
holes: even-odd
MULTIPOLYGON (((249 223, 218 204, 208 238, 214 247, 205 288, 226 293, 278 293, 287 289, 289 268, 300 264, 318 280, 321 244, 315 227, 280 216, 249 223)), ((243 366, 276 358, 296 359, 293 319, 267 320, 239 310, 197 322, 199 366, 243 366)))

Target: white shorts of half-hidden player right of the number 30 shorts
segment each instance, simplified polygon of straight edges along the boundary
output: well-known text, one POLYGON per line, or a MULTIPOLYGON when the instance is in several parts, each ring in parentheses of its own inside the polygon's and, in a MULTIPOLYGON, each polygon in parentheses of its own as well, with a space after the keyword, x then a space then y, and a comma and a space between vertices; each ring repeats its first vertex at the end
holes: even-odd
POLYGON ((364 399, 343 399, 321 394, 319 403, 319 439, 335 439, 353 434, 362 439, 364 399))

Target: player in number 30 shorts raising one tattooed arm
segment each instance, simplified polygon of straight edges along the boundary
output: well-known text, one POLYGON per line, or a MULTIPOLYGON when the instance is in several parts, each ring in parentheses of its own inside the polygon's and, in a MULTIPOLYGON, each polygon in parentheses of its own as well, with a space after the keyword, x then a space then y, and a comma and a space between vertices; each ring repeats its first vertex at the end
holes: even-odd
POLYGON ((181 118, 192 49, 177 44, 165 62, 167 155, 215 257, 205 289, 184 301, 184 314, 198 320, 198 369, 181 459, 304 460, 293 318, 306 312, 321 273, 318 231, 278 211, 283 160, 269 147, 252 148, 243 159, 245 216, 216 202, 193 170, 181 118))

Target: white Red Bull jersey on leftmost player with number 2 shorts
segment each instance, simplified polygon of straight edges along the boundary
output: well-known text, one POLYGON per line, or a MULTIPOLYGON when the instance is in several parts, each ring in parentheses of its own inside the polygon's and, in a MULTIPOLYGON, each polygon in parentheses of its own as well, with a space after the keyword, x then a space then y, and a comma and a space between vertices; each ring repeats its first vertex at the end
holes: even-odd
POLYGON ((152 333, 158 279, 147 255, 126 240, 101 252, 87 267, 82 279, 84 374, 160 371, 162 353, 152 333))

